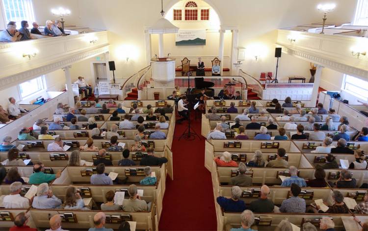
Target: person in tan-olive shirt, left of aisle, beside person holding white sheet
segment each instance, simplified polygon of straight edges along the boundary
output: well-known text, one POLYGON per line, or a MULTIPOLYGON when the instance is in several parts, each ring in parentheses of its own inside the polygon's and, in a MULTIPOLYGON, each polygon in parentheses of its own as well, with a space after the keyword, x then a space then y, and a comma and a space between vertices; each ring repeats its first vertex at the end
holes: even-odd
POLYGON ((123 201, 123 210, 126 212, 148 211, 147 202, 142 200, 138 195, 138 189, 135 184, 131 184, 128 188, 129 199, 123 201))

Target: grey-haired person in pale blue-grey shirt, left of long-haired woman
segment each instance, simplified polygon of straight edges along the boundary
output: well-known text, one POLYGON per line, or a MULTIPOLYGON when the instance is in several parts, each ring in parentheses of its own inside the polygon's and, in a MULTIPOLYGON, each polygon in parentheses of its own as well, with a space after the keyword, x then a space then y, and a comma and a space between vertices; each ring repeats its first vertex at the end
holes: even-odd
POLYGON ((48 183, 42 183, 37 187, 37 196, 33 198, 32 207, 38 209, 55 209, 63 203, 53 195, 48 183))

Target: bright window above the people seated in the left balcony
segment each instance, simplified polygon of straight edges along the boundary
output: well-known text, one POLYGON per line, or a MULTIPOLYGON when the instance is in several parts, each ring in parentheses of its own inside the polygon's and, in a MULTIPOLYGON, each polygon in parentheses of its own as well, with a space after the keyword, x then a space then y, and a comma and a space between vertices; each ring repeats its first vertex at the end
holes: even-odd
POLYGON ((2 9, 5 24, 14 21, 20 28, 23 20, 28 21, 29 25, 35 21, 32 0, 2 0, 2 9))

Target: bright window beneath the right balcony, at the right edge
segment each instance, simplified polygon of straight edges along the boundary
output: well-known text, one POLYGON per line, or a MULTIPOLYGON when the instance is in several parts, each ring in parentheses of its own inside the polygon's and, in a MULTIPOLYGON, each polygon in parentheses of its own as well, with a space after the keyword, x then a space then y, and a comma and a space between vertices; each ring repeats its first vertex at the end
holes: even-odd
POLYGON ((345 75, 342 89, 361 99, 368 100, 368 82, 362 79, 345 75))

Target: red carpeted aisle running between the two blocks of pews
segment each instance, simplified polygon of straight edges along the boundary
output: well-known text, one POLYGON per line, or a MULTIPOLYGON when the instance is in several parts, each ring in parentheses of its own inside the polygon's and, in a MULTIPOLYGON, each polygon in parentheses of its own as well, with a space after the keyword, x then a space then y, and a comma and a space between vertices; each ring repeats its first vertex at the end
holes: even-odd
POLYGON ((216 230, 212 182, 210 172, 205 168, 205 139, 201 133, 201 119, 191 126, 198 137, 194 141, 179 141, 188 122, 176 123, 172 144, 174 180, 166 180, 163 209, 159 230, 216 230))

